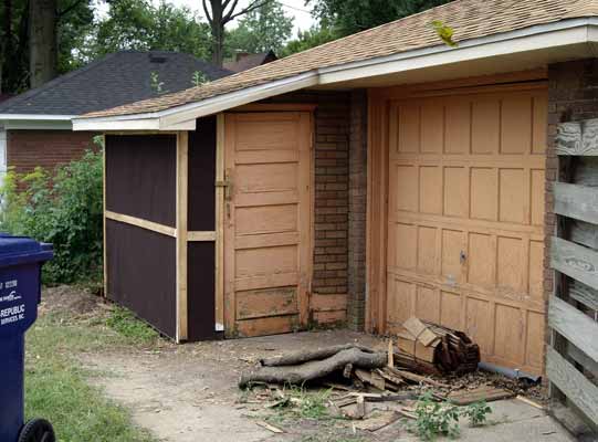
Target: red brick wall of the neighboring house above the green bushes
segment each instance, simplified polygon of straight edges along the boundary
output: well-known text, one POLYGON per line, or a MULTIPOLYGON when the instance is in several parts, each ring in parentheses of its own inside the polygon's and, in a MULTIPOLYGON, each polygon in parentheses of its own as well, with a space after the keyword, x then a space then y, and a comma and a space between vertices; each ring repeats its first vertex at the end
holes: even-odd
POLYGON ((54 169, 81 158, 93 146, 95 134, 72 130, 8 130, 7 164, 19 173, 36 166, 54 169))

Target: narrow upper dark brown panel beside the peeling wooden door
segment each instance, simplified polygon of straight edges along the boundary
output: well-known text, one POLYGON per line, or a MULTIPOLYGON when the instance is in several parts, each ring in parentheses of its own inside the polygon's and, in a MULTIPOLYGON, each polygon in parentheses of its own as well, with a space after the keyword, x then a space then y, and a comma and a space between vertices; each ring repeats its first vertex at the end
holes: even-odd
POLYGON ((188 229, 214 230, 216 116, 199 118, 189 133, 188 229))

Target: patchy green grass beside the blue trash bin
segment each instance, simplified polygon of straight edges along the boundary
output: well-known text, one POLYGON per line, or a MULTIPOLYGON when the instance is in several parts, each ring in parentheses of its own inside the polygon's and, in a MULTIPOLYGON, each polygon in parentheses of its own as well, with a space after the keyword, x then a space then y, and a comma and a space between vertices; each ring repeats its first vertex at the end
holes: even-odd
MULTIPOLYGON (((136 327, 129 325, 125 329, 136 327)), ((77 319, 49 313, 40 317, 27 334, 27 418, 50 420, 61 442, 154 441, 132 423, 126 409, 88 383, 97 373, 82 369, 74 357, 138 343, 135 334, 132 337, 106 327, 102 316, 77 319)))

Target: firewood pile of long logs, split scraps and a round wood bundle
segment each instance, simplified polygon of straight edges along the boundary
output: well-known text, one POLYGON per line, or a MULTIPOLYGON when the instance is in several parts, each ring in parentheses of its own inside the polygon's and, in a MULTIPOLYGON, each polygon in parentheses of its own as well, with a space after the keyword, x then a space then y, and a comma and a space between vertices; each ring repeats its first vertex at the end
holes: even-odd
POLYGON ((242 375, 239 386, 336 379, 357 389, 396 392, 413 383, 444 388, 448 386, 430 375, 476 370, 480 349, 465 334, 416 317, 403 328, 397 337, 398 346, 391 339, 386 351, 348 344, 262 359, 260 367, 242 375))

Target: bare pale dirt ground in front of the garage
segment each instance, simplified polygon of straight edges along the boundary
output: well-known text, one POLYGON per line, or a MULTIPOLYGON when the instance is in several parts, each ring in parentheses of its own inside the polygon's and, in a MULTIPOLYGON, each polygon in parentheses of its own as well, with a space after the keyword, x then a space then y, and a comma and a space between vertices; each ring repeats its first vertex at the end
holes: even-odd
MULTIPOLYGON (((72 291, 46 294, 42 312, 75 309, 78 315, 102 314, 109 306, 92 296, 73 297, 72 291)), ((243 370, 260 358, 283 351, 358 343, 386 348, 376 337, 347 330, 296 333, 252 339, 209 341, 176 346, 159 340, 148 348, 107 349, 77 355, 96 376, 92 381, 106 394, 132 410, 134 421, 160 441, 176 442, 348 442, 416 441, 398 420, 377 431, 360 429, 363 422, 331 418, 293 418, 267 408, 270 390, 240 391, 243 370), (267 421, 282 433, 262 427, 267 421)), ((476 380, 461 380, 463 388, 476 380)), ((496 382, 495 382, 496 383, 496 382)), ((499 382, 500 383, 500 382, 499 382)), ((508 383, 508 382, 506 382, 508 383)), ((539 398, 538 391, 533 397, 539 398)), ((405 403, 368 403, 368 413, 384 420, 405 403)), ((407 403, 410 404, 410 403, 407 403)), ((574 439, 549 417, 520 400, 492 403, 491 424, 462 427, 462 441, 562 442, 574 439)))

